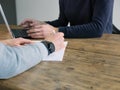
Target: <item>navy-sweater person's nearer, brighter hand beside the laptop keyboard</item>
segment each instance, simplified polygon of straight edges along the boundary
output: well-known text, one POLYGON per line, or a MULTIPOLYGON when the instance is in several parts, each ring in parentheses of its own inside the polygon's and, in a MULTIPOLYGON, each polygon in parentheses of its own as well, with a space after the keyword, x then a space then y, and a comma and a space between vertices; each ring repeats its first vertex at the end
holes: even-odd
POLYGON ((28 30, 28 36, 32 38, 45 38, 50 34, 54 34, 58 28, 55 28, 49 24, 37 25, 34 28, 28 30))

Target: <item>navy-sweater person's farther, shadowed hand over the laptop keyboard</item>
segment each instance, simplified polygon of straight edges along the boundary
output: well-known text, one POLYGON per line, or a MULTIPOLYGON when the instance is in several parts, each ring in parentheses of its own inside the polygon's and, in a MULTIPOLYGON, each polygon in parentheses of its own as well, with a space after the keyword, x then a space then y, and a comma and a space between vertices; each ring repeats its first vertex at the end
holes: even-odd
POLYGON ((46 23, 34 19, 25 19, 24 21, 21 22, 20 26, 29 29, 35 27, 36 25, 42 25, 42 24, 46 24, 46 23))

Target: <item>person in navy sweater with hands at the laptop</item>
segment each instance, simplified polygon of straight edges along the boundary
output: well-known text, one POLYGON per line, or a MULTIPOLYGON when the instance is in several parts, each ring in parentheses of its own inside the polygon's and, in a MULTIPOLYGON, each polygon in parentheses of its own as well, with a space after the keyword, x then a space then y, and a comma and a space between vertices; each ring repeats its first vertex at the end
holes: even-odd
POLYGON ((54 30, 63 32, 65 38, 101 37, 112 33, 113 4, 114 0, 59 0, 57 20, 42 23, 26 19, 20 25, 32 27, 28 31, 32 38, 45 38, 54 30))

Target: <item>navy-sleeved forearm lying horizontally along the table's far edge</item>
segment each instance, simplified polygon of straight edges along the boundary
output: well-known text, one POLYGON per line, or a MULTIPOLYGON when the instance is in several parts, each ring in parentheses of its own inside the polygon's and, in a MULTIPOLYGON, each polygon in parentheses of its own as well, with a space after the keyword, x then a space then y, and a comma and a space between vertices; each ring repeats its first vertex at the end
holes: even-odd
POLYGON ((94 38, 101 37, 102 27, 97 23, 76 25, 70 27, 59 27, 59 32, 63 32, 65 38, 94 38))

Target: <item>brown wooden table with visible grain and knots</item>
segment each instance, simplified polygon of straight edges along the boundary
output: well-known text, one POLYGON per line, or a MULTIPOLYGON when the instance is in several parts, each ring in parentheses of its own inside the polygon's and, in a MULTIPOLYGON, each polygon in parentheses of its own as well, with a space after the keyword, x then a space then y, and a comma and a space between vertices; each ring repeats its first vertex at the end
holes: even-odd
POLYGON ((120 35, 66 40, 62 62, 41 62, 0 80, 0 90, 120 90, 120 35))

